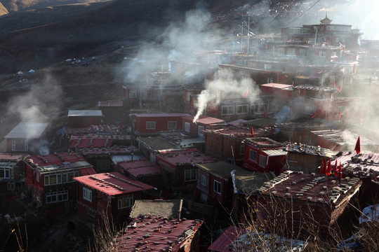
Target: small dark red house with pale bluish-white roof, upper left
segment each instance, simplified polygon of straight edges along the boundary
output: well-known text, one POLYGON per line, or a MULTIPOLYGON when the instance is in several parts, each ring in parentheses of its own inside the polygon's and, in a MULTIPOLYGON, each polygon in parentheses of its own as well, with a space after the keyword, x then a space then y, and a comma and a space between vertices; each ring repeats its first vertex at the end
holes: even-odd
POLYGON ((69 110, 69 127, 79 128, 90 125, 100 125, 102 120, 102 111, 100 110, 69 110))

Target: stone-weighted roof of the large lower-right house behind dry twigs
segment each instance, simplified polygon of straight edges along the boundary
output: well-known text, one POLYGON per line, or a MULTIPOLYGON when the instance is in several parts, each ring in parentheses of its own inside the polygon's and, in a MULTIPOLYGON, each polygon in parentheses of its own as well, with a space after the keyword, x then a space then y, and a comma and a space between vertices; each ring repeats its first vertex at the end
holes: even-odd
POLYGON ((361 181, 358 178, 347 177, 341 179, 339 184, 338 179, 331 176, 286 171, 264 183, 257 193, 266 197, 338 206, 357 193, 360 186, 361 181))

